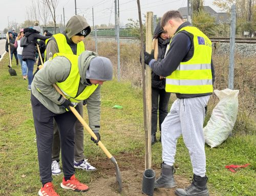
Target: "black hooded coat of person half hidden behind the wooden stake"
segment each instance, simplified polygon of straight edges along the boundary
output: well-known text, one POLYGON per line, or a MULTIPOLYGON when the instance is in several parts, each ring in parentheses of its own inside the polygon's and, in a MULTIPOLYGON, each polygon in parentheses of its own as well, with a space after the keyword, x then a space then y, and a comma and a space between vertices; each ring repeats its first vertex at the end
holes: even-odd
MULTIPOLYGON (((170 42, 170 39, 163 40, 160 37, 162 32, 163 30, 161 29, 160 22, 159 22, 154 31, 154 38, 158 39, 158 56, 156 60, 159 62, 161 62, 164 59, 166 47, 170 42)), ((165 89, 165 79, 160 80, 160 76, 155 74, 153 71, 152 71, 151 77, 152 77, 152 88, 160 89, 160 90, 165 89)))

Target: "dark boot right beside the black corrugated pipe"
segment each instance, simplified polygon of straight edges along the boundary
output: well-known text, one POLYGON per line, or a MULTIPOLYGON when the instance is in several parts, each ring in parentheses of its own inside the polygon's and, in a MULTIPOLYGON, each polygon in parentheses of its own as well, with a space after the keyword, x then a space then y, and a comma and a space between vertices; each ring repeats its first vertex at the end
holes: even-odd
POLYGON ((174 180, 174 167, 162 163, 161 176, 155 181, 154 188, 174 188, 176 186, 174 180))

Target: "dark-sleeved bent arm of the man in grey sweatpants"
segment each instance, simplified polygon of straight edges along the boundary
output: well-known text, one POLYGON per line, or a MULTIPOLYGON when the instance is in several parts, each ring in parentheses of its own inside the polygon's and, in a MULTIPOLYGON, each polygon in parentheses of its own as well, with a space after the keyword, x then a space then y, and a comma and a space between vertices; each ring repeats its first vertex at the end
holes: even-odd
POLYGON ((187 55, 190 46, 190 38, 182 32, 178 33, 170 43, 165 58, 161 62, 153 59, 150 61, 149 66, 157 75, 163 77, 169 76, 178 68, 180 62, 187 55))

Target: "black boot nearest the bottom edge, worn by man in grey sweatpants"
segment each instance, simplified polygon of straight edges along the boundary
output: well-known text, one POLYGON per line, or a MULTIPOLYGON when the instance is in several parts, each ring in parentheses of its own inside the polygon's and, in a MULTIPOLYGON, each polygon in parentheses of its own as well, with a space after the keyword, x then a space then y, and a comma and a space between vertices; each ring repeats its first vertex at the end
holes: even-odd
POLYGON ((194 174, 193 182, 185 189, 178 188, 175 190, 175 194, 178 196, 209 196, 209 191, 206 186, 207 176, 200 177, 194 174))

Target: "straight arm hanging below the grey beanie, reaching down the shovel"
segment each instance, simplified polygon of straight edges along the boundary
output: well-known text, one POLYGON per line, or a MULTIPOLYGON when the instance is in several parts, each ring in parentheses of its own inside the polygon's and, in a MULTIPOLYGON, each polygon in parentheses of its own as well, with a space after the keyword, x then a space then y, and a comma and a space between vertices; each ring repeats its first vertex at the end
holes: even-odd
POLYGON ((86 102, 89 117, 89 126, 94 131, 94 133, 97 133, 100 129, 100 85, 98 85, 97 89, 86 100, 86 102))

